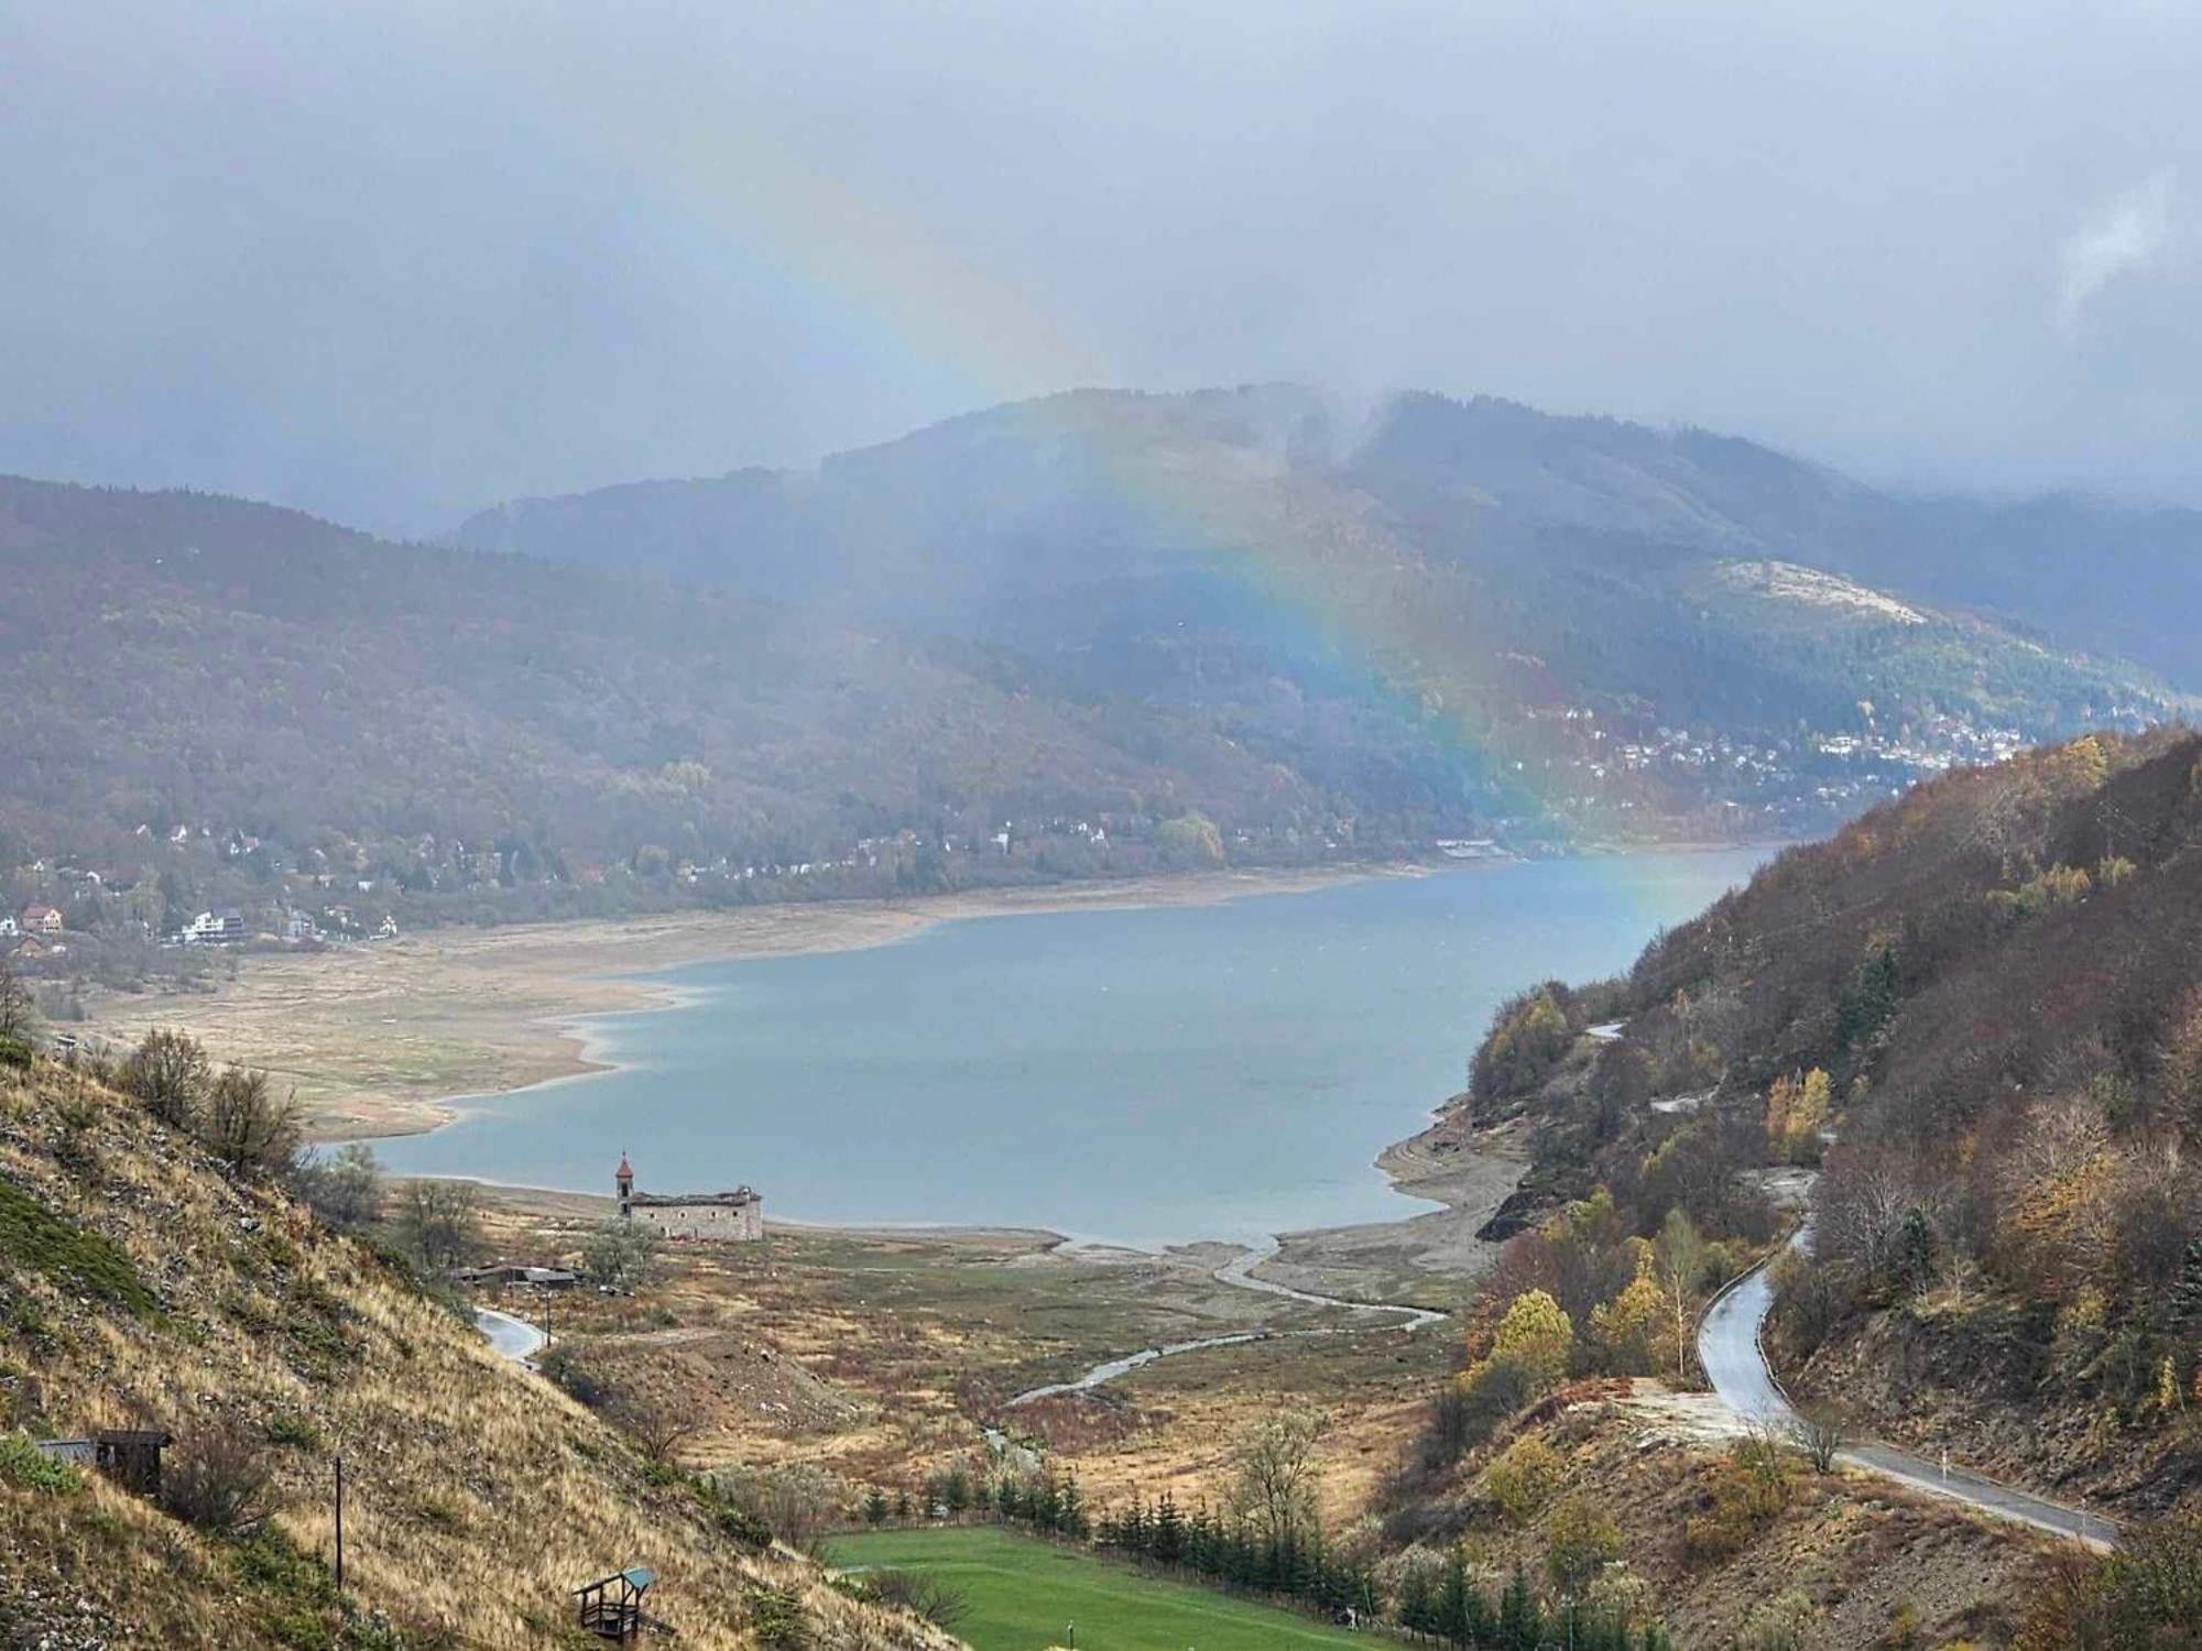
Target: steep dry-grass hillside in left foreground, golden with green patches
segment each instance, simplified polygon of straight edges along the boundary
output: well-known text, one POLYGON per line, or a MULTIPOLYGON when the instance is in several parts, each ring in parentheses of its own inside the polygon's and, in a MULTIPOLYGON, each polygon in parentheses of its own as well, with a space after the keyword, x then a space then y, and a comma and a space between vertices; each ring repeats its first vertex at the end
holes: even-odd
POLYGON ((623 1565, 658 1574, 650 1607, 689 1647, 953 1644, 724 1534, 370 1248, 44 1061, 0 1065, 0 1424, 7 1644, 588 1644, 570 1589, 623 1565), (132 1424, 176 1435, 172 1504, 262 1462, 266 1523, 48 1484, 22 1444, 132 1424))

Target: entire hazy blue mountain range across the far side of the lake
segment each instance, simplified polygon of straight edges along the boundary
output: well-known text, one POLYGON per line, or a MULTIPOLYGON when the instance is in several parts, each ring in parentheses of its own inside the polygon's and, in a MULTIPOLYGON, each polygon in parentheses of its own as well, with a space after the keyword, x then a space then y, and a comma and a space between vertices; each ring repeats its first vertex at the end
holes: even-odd
POLYGON ((1797 834, 2202 689, 2195 513, 1279 385, 995 407, 449 548, 0 480, 0 874, 165 878, 148 927, 209 889, 511 916, 1797 834))

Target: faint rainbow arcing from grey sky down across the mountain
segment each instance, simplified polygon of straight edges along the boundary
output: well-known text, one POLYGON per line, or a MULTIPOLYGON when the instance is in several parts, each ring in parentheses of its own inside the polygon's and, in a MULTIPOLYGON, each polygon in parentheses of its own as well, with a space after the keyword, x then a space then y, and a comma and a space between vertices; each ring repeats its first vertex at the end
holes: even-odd
POLYGON ((1094 416, 1099 398, 1064 385, 1108 383, 1108 359, 916 216, 859 196, 771 136, 729 143, 722 130, 687 128, 632 158, 641 187, 658 189, 676 220, 713 253, 735 249, 850 352, 894 361, 938 385, 942 401, 1017 403, 1031 442, 1072 453, 1160 537, 1227 575, 1279 641, 1301 656, 1312 647, 1341 680, 1418 726, 1462 786, 1506 792, 1508 812, 1550 817, 1478 713, 1458 616, 1422 599, 1416 579, 1356 577, 1372 550, 1420 568, 1416 548, 1372 546, 1387 539, 1378 524, 1341 511, 1334 495, 1295 491, 1282 462, 1264 467, 1233 447, 1231 462, 1196 473, 1182 451, 1143 440, 1136 420, 1116 416, 1121 403, 1094 416))

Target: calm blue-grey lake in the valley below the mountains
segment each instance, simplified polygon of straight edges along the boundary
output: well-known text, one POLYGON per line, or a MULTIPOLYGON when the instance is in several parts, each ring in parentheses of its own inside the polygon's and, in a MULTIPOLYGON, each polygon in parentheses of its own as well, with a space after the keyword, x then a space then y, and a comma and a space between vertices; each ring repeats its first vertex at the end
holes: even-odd
POLYGON ((1764 850, 1378 876, 1198 907, 942 922, 674 969, 586 1021, 612 1072, 377 1142, 401 1173, 610 1193, 751 1182, 766 1215, 1260 1242, 1422 1209, 1374 1169, 1502 997, 1625 969, 1764 850))

